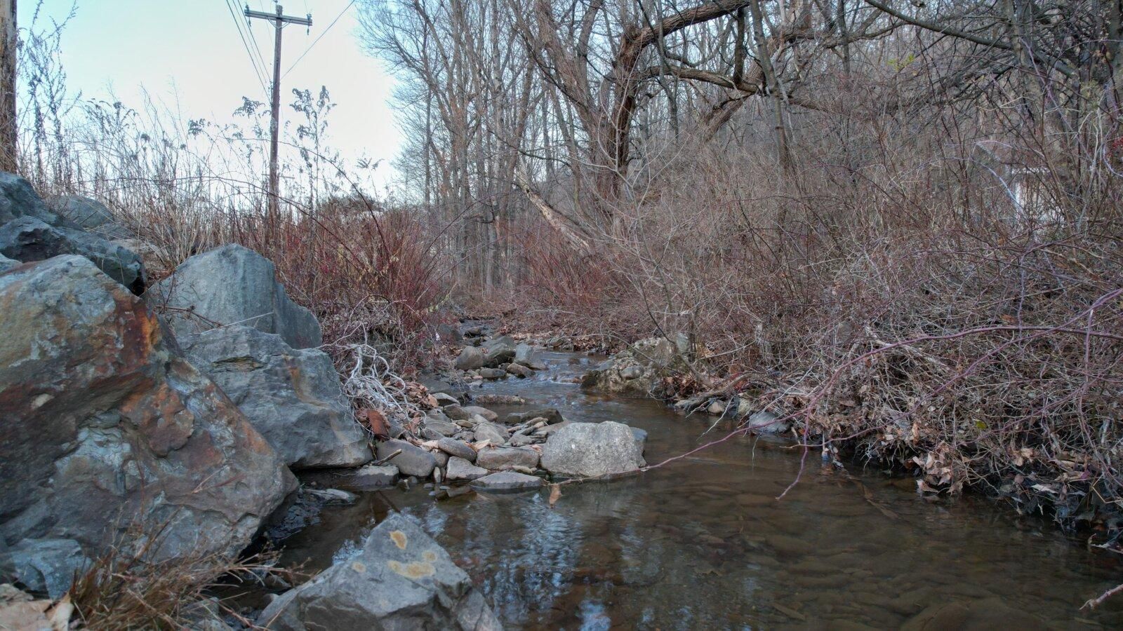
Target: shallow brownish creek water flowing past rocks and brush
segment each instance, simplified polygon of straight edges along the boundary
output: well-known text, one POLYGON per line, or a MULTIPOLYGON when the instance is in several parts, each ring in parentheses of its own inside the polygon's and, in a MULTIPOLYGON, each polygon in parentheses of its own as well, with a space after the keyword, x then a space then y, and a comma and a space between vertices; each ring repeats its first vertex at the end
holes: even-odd
MULTIPOLYGON (((582 392, 567 382, 587 357, 545 359, 550 369, 533 379, 478 392, 554 405, 572 421, 642 428, 649 464, 725 433, 702 437, 712 419, 657 402, 582 392)), ((885 629, 975 601, 1056 628, 1123 627, 1123 604, 1079 611, 1123 582, 1115 556, 1008 506, 932 503, 910 481, 853 464, 847 476, 814 454, 800 484, 775 500, 800 459, 787 442, 739 438, 642 475, 567 485, 553 507, 547 491, 440 502, 421 487, 365 493, 290 538, 283 560, 322 569, 400 510, 421 521, 510 628, 885 629)))

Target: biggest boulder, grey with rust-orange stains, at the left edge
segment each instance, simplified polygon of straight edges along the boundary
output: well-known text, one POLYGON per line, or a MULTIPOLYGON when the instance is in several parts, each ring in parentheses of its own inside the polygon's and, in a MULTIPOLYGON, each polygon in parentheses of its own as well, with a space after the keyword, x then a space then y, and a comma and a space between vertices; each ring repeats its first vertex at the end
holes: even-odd
POLYGON ((79 256, 0 274, 0 537, 240 551, 295 487, 147 305, 79 256))

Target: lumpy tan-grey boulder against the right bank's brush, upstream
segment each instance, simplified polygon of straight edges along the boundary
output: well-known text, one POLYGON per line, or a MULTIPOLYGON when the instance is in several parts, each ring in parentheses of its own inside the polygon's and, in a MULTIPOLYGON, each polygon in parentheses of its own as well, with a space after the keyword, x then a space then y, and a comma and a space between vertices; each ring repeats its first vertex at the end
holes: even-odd
POLYGON ((586 390, 647 396, 663 377, 685 372, 685 357, 690 344, 685 336, 677 336, 674 342, 666 338, 640 340, 609 359, 582 377, 586 390))

